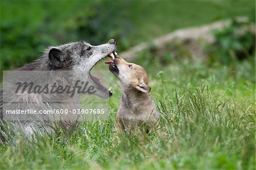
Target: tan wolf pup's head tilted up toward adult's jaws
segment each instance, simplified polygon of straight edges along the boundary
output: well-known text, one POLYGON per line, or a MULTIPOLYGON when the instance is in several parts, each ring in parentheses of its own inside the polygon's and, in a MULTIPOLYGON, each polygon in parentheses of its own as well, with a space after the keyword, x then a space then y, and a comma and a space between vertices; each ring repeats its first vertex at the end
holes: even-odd
POLYGON ((143 93, 150 92, 146 71, 137 64, 128 63, 115 55, 113 61, 107 62, 109 70, 121 81, 125 88, 134 88, 143 93))

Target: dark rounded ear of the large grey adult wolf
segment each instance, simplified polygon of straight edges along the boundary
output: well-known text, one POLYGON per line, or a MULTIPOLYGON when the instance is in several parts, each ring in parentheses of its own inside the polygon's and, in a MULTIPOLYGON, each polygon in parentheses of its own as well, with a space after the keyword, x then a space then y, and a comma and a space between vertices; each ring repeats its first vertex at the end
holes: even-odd
POLYGON ((52 48, 49 51, 49 61, 52 65, 55 67, 61 67, 62 63, 64 61, 64 56, 62 55, 62 52, 57 48, 52 48))

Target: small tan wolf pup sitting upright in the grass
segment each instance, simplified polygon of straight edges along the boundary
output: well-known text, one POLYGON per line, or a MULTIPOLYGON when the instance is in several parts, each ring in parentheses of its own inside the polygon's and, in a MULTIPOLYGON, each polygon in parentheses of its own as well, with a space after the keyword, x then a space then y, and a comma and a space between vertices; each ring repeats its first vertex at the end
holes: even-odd
POLYGON ((117 112, 115 130, 134 132, 143 126, 149 132, 159 118, 155 102, 149 94, 146 71, 137 64, 127 63, 114 53, 109 64, 110 71, 121 81, 121 101, 117 112))

